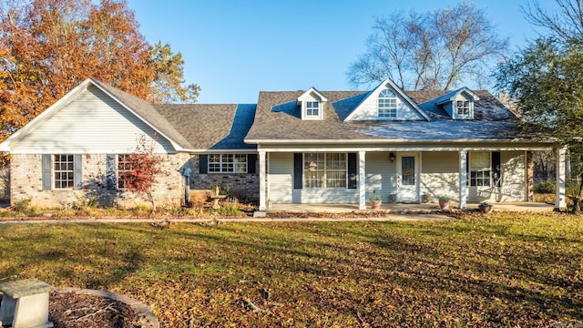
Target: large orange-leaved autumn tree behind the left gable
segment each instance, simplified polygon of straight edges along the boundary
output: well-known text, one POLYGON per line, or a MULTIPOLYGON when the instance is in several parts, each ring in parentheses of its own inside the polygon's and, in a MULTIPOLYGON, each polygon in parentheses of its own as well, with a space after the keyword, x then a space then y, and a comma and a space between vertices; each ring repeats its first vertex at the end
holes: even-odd
POLYGON ((0 0, 0 141, 87 77, 152 102, 195 102, 184 60, 150 46, 125 0, 0 0))

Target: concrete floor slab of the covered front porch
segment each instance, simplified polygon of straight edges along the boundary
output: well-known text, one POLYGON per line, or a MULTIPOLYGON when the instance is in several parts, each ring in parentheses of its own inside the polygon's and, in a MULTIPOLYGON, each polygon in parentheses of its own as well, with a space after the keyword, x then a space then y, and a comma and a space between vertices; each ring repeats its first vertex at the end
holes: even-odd
MULTIPOLYGON (((537 202, 503 202, 503 203, 491 203, 494 205, 494 210, 496 211, 553 211, 555 209, 554 205, 537 203, 537 202)), ((468 203, 468 210, 477 210, 479 203, 468 203)), ((453 209, 458 209, 459 204, 452 202, 453 209)), ((406 214, 406 213, 430 213, 435 211, 441 211, 439 204, 436 202, 431 203, 383 203, 380 210, 384 210, 388 213, 395 214, 406 214)), ((366 210, 358 210, 358 204, 272 204, 271 210, 267 212, 330 212, 330 213, 342 213, 342 212, 366 212, 374 211, 367 204, 366 210)))

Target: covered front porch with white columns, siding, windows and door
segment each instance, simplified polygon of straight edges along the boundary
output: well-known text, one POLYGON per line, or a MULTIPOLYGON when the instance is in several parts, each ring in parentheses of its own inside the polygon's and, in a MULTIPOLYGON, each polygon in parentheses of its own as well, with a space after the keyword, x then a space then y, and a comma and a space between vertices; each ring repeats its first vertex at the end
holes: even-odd
MULTIPOLYGON (((387 210, 435 210, 447 196, 459 209, 482 201, 499 209, 531 208, 533 148, 381 148, 343 146, 259 149, 260 210, 367 210, 377 194, 387 210), (338 205, 342 204, 342 205, 338 205)), ((557 151, 557 204, 565 204, 565 149, 557 151)), ((543 208, 545 208, 543 206, 543 208)), ((530 209, 528 209, 530 210, 530 209)))

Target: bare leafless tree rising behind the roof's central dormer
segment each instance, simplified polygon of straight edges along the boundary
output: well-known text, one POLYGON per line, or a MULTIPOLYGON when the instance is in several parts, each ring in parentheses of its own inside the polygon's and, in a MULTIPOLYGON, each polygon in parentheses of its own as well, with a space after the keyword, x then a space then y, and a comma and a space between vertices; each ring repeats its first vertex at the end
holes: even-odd
POLYGON ((390 77, 404 88, 449 89, 466 78, 483 82, 487 65, 506 51, 507 39, 497 35, 484 9, 461 3, 377 17, 367 47, 346 73, 353 86, 390 77))

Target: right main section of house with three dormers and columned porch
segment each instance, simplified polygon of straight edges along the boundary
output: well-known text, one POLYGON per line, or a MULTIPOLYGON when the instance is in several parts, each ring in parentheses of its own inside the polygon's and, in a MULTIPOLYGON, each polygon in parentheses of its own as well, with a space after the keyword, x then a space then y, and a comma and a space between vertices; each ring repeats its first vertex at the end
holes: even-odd
POLYGON ((533 200, 532 151, 552 145, 516 124, 487 91, 404 92, 387 79, 368 92, 261 92, 245 141, 259 153, 261 209, 266 200, 365 209, 373 192, 385 201, 447 195, 465 208, 533 200))

